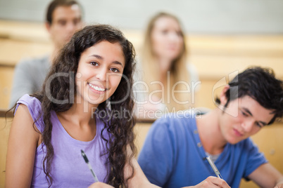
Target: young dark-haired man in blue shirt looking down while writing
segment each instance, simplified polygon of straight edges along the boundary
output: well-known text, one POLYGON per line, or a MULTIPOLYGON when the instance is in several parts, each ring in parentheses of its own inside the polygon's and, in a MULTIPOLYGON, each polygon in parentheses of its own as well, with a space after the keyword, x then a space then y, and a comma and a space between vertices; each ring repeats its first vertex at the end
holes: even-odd
POLYGON ((253 67, 220 93, 218 107, 202 116, 166 114, 146 137, 139 165, 161 187, 239 187, 241 178, 260 187, 283 187, 279 173, 250 136, 283 113, 283 83, 272 69, 253 67), (210 167, 210 156, 223 179, 210 167))

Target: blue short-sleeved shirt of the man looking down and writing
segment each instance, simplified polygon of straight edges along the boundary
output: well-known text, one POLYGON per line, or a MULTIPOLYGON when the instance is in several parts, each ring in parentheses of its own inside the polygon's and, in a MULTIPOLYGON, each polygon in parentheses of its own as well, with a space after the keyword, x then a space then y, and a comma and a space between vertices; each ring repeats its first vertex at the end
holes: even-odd
MULTIPOLYGON (((196 119, 188 114, 166 114, 153 123, 138 162, 149 181, 161 187, 192 186, 215 176, 206 160, 196 119)), ((215 166, 234 188, 263 163, 267 160, 248 138, 236 145, 228 143, 215 166)))

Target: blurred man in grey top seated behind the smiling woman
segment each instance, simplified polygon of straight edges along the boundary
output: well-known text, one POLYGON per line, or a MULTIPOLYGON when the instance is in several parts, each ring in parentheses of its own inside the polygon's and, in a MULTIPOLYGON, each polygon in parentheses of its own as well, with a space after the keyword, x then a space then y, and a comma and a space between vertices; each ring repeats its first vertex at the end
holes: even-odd
POLYGON ((37 92, 42 88, 45 76, 51 67, 51 62, 73 34, 81 29, 82 6, 75 0, 51 1, 46 12, 45 26, 50 34, 54 49, 51 54, 40 58, 22 60, 15 66, 13 86, 9 107, 27 94, 37 92))

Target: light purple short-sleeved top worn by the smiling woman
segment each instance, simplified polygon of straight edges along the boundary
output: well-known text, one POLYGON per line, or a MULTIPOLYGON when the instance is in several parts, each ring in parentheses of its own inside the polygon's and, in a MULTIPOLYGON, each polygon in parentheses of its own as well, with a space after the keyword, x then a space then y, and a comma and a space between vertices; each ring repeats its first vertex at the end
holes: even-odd
MULTIPOLYGON (((44 130, 43 119, 42 117, 38 119, 42 109, 41 102, 37 98, 30 97, 30 95, 23 95, 18 100, 19 104, 27 106, 32 119, 35 121, 35 126, 42 133, 44 130)), ((101 130, 104 127, 103 121, 96 118, 96 136, 89 142, 75 140, 71 137, 63 128, 54 111, 51 112, 51 122, 53 125, 51 144, 54 147, 54 159, 51 163, 51 177, 53 178, 51 187, 88 187, 94 183, 92 173, 82 157, 81 149, 87 155, 89 163, 99 181, 106 182, 107 170, 110 170, 110 166, 106 167, 105 165, 108 155, 101 156, 102 152, 106 149, 106 141, 101 137, 101 130)), ((109 140, 107 130, 103 131, 103 137, 109 140)), ((31 187, 48 187, 43 170, 43 159, 45 155, 46 147, 42 143, 37 147, 35 154, 31 187)))

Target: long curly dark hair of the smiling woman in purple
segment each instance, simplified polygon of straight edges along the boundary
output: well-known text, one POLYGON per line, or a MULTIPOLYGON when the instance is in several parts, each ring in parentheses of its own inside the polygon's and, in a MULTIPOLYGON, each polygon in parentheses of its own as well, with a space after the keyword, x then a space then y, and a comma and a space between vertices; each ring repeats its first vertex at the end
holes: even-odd
POLYGON ((54 157, 54 148, 51 145, 52 123, 50 112, 65 112, 73 106, 74 96, 76 95, 75 75, 77 74, 80 56, 87 48, 101 41, 120 43, 125 55, 125 68, 118 88, 111 98, 102 102, 96 109, 105 112, 121 112, 121 110, 127 112, 123 116, 110 117, 111 121, 103 121, 105 126, 101 135, 103 131, 108 131, 110 135, 113 135, 111 140, 106 140, 103 137, 103 140, 107 142, 106 152, 103 153, 108 154, 106 166, 111 166, 107 182, 113 187, 127 187, 127 180, 133 176, 134 167, 131 159, 136 154, 133 133, 135 119, 132 117, 134 107, 132 100, 132 74, 135 67, 134 47, 118 29, 109 25, 91 25, 76 32, 70 42, 63 47, 46 76, 42 91, 34 94, 34 97, 42 102, 42 116, 45 124, 42 142, 46 146, 47 152, 43 166, 49 186, 52 184, 51 163, 54 157), (126 163, 130 163, 132 168, 132 175, 127 178, 124 177, 126 163))

